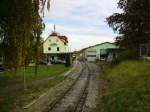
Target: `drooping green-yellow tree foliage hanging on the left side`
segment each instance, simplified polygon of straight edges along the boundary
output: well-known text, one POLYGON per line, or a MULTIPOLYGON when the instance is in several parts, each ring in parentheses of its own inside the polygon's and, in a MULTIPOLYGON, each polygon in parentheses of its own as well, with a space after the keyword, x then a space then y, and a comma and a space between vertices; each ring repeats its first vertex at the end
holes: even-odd
POLYGON ((9 68, 25 66, 31 54, 35 60, 38 59, 44 29, 39 11, 44 10, 48 1, 0 1, 0 49, 9 68))

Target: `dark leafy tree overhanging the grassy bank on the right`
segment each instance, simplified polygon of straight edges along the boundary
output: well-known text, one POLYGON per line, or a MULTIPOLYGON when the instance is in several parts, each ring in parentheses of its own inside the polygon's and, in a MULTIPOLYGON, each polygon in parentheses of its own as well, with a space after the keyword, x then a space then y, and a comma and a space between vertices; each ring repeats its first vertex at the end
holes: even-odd
POLYGON ((150 0, 119 0, 123 13, 107 18, 108 25, 119 34, 116 43, 138 56, 139 46, 150 42, 150 0))

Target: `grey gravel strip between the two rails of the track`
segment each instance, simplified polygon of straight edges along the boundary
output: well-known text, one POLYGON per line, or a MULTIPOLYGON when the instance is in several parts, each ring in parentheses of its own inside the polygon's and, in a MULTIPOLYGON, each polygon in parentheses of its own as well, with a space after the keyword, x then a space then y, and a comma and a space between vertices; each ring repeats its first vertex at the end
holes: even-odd
POLYGON ((84 91, 86 86, 86 82, 88 80, 88 69, 85 67, 81 77, 76 82, 76 84, 71 88, 71 90, 61 99, 61 101, 48 112, 72 112, 78 101, 80 100, 80 96, 84 91))

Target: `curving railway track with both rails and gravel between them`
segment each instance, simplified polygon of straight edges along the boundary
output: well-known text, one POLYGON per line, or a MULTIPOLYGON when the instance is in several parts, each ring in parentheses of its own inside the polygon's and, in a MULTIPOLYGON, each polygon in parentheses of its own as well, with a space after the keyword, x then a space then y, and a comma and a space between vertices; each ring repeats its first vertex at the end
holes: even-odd
POLYGON ((43 112, 82 112, 88 94, 90 69, 82 63, 82 71, 67 91, 52 102, 43 112))

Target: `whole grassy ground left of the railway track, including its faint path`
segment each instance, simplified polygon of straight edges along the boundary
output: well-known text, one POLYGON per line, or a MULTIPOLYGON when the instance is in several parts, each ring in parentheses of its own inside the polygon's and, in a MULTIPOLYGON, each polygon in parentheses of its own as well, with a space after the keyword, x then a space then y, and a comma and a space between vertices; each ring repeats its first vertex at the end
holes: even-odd
POLYGON ((16 74, 7 71, 0 74, 0 112, 16 112, 25 104, 37 98, 47 89, 62 82, 61 73, 69 70, 63 65, 39 66, 34 75, 34 67, 26 69, 27 90, 23 90, 23 69, 16 74))

